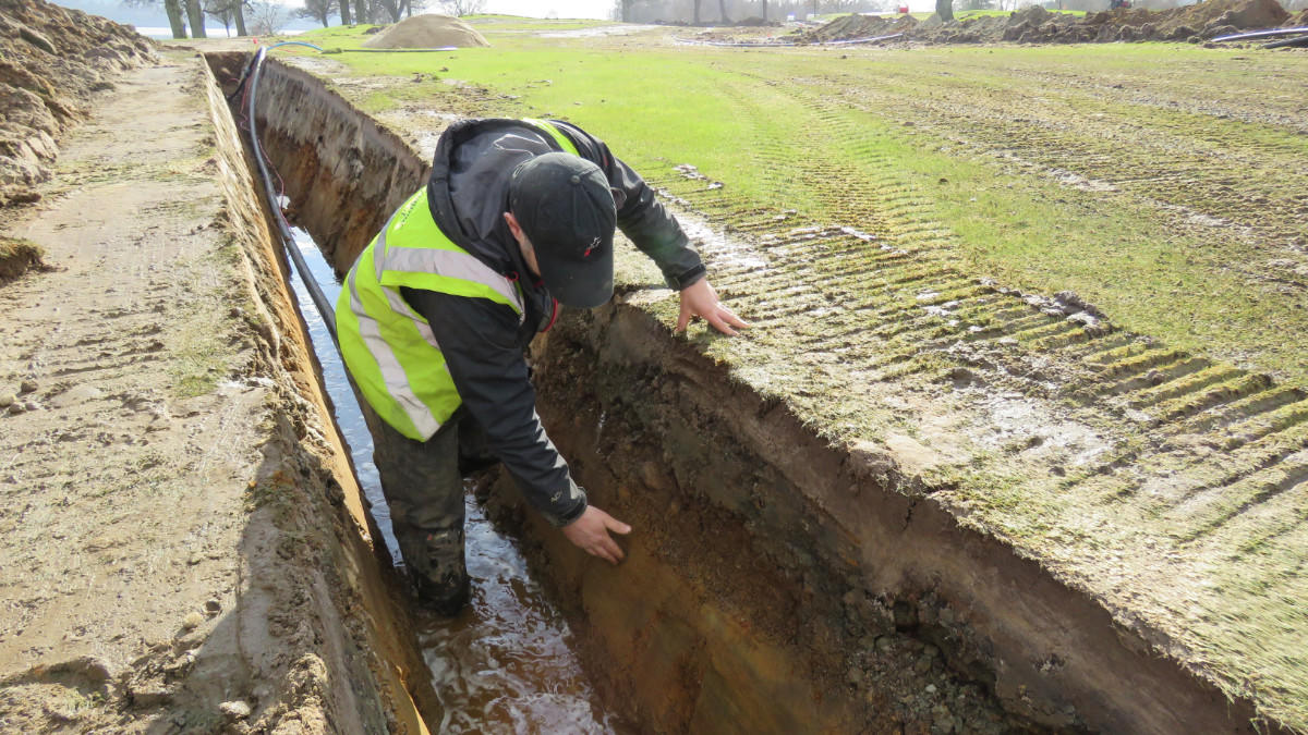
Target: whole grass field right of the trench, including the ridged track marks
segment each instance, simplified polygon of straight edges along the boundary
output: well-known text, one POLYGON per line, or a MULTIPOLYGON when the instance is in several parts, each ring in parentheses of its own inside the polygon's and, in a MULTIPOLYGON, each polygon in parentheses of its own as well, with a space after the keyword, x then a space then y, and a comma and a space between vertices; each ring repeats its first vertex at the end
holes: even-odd
POLYGON ((756 322, 698 333, 709 354, 833 441, 948 456, 923 477, 967 523, 1308 728, 1308 54, 494 27, 332 73, 409 131, 441 110, 606 139, 747 243, 704 245, 756 322))

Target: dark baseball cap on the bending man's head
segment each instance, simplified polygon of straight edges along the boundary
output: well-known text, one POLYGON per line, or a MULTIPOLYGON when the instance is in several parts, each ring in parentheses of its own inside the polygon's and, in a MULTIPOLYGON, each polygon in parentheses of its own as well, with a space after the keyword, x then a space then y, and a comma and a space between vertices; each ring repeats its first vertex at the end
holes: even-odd
POLYGON ((509 211, 560 303, 591 309, 613 297, 617 207, 599 166, 568 153, 536 156, 514 169, 509 211))

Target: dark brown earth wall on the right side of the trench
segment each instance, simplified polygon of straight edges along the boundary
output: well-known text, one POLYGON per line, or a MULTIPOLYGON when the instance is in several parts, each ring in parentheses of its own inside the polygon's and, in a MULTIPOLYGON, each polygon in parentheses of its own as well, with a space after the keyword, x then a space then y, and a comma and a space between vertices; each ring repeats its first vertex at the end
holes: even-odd
MULTIPOLYGON (((243 59, 211 63, 234 80, 243 59)), ((425 165, 302 71, 264 75, 264 144, 343 272, 425 165)), ((997 727, 1252 731, 1245 702, 960 523, 886 447, 832 447, 734 381, 658 298, 569 314, 535 347, 542 416, 596 505, 637 527, 629 561, 526 519, 602 689, 645 727, 876 731, 909 717, 893 670, 916 662, 897 651, 929 643, 976 711, 1002 705, 997 727)))

